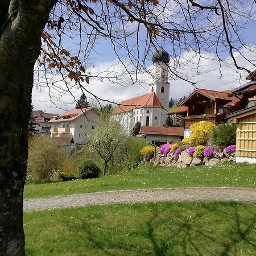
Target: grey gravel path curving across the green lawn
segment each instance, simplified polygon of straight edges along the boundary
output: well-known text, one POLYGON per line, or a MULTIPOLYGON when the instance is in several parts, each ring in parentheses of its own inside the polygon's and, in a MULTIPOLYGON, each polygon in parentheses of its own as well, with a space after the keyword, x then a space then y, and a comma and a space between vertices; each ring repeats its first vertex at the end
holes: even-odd
POLYGON ((256 203, 254 188, 157 188, 83 193, 68 196, 52 196, 25 199, 23 210, 61 209, 115 203, 139 203, 155 201, 242 201, 256 203))

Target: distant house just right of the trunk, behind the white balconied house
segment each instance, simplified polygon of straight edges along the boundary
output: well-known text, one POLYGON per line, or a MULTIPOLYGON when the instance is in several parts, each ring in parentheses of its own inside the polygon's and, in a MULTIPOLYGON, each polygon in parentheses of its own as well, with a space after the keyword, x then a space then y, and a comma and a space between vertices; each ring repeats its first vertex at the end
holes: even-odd
POLYGON ((50 135, 51 123, 48 123, 55 115, 53 113, 44 113, 42 110, 33 110, 31 117, 34 117, 33 120, 35 123, 35 130, 39 134, 50 135))

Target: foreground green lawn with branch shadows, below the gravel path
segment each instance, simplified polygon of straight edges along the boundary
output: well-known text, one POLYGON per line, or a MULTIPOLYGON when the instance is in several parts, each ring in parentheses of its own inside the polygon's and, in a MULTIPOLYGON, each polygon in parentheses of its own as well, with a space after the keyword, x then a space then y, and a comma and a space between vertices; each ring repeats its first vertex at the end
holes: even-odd
POLYGON ((256 255, 256 207, 142 203, 24 213, 26 255, 256 255))

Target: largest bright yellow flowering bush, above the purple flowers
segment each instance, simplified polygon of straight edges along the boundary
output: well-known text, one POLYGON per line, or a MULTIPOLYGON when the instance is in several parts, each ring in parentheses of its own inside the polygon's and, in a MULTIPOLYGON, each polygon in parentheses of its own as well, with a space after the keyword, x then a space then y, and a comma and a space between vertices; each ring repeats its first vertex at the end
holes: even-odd
POLYGON ((205 145, 209 141, 210 134, 213 132, 215 125, 209 121, 201 121, 193 123, 190 126, 191 135, 183 139, 182 143, 185 145, 205 145))

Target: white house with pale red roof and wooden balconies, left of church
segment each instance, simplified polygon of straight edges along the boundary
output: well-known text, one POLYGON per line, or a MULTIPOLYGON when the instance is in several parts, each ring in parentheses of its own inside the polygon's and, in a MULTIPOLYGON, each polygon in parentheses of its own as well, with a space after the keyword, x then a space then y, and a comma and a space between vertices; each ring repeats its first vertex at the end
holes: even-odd
POLYGON ((75 144, 85 143, 85 129, 94 130, 98 114, 93 108, 68 110, 53 117, 51 137, 72 137, 75 144))

